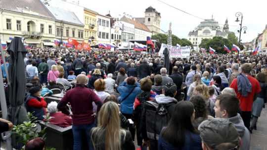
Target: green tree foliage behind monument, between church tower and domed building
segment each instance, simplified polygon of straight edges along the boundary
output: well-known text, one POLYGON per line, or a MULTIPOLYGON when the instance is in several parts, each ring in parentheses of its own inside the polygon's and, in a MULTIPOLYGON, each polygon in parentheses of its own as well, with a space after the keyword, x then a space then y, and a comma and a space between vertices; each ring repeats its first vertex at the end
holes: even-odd
MULTIPOLYGON (((157 40, 159 43, 167 44, 168 35, 159 33, 156 35, 152 35, 151 39, 157 40)), ((193 48, 192 43, 187 39, 179 39, 176 35, 172 35, 172 45, 177 46, 177 44, 179 44, 181 47, 191 46, 191 48, 193 48)))

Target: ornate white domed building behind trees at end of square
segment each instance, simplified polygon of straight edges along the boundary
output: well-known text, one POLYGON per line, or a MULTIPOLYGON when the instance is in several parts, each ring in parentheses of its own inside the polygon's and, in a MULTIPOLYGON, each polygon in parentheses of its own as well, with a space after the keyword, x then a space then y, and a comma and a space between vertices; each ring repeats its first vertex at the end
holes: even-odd
POLYGON ((199 45, 203 39, 212 39, 215 36, 227 39, 228 31, 229 27, 227 19, 223 30, 218 21, 215 21, 214 19, 206 19, 200 22, 195 30, 189 32, 187 40, 193 44, 194 50, 199 50, 199 45))

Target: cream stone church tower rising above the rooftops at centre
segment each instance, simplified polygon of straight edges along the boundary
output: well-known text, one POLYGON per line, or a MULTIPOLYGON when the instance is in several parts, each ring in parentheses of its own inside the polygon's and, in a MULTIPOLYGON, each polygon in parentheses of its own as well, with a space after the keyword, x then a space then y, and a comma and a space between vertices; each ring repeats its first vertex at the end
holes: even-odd
POLYGON ((152 6, 145 9, 144 24, 152 32, 152 35, 160 33, 160 13, 152 6))

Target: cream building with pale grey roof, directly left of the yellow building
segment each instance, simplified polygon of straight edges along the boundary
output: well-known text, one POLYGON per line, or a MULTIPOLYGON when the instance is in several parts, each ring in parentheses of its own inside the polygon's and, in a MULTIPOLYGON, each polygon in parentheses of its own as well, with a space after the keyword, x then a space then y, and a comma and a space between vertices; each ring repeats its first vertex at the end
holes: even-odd
POLYGON ((67 41, 68 38, 84 42, 84 24, 74 12, 62 8, 46 5, 47 9, 55 17, 55 38, 67 41))

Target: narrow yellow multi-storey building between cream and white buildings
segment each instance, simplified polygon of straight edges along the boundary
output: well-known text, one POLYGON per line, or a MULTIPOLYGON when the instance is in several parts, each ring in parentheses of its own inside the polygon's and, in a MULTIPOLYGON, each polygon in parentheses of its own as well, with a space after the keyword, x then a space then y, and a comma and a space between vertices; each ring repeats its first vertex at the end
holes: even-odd
POLYGON ((84 9, 84 17, 85 17, 85 42, 91 41, 91 45, 96 44, 96 36, 97 36, 97 22, 96 22, 96 15, 98 13, 90 10, 88 8, 84 9))

